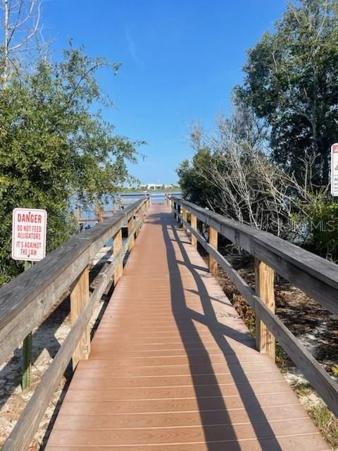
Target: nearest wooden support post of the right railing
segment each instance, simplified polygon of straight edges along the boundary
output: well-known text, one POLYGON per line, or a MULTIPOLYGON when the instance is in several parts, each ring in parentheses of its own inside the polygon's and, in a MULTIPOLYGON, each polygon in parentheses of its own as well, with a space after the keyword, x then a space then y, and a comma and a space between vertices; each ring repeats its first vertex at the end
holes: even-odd
MULTIPOLYGON (((263 261, 255 259, 256 294, 275 313, 275 271, 263 261)), ((275 361, 275 337, 256 315, 256 345, 259 352, 275 361)))

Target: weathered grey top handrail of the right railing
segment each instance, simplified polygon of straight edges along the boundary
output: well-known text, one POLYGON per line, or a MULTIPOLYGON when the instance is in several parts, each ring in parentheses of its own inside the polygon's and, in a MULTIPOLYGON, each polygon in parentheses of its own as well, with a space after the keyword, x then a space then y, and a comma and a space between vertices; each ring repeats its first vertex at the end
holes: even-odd
POLYGON ((264 261, 276 273, 303 290, 325 309, 338 314, 337 264, 282 240, 272 233, 225 218, 186 200, 177 197, 170 199, 178 205, 185 206, 187 211, 200 221, 217 230, 220 235, 242 247, 256 259, 264 261))

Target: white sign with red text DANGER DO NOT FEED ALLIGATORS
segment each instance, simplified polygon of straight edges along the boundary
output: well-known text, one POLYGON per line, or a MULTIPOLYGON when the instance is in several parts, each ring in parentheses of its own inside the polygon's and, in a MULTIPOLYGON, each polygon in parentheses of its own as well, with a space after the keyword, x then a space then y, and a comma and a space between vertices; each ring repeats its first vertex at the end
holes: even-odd
POLYGON ((39 261, 46 257, 47 212, 42 209, 14 209, 12 259, 39 261))

